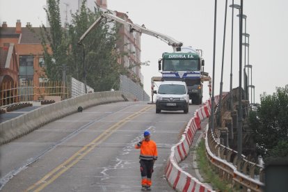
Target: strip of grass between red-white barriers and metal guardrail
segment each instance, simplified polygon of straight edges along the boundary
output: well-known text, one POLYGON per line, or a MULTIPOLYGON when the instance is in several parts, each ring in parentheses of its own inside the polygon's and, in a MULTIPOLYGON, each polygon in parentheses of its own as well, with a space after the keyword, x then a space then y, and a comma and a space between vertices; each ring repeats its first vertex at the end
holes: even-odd
POLYGON ((198 144, 197 151, 197 163, 200 168, 201 175, 205 178, 205 182, 211 183, 216 191, 235 191, 232 189, 231 184, 223 181, 217 173, 214 172, 214 168, 210 165, 209 160, 205 154, 205 140, 202 139, 198 144))

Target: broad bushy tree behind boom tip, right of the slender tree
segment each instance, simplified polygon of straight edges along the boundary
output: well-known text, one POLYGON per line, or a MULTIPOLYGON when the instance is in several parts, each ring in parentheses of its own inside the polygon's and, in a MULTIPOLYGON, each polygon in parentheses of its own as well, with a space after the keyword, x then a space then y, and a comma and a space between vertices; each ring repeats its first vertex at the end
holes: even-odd
POLYGON ((115 24, 99 24, 86 36, 82 45, 77 44, 81 35, 101 14, 91 12, 82 3, 80 12, 72 15, 72 24, 69 26, 72 76, 83 81, 85 63, 87 83, 96 91, 111 90, 112 87, 118 89, 122 74, 122 66, 117 63, 118 53, 115 51, 115 24))

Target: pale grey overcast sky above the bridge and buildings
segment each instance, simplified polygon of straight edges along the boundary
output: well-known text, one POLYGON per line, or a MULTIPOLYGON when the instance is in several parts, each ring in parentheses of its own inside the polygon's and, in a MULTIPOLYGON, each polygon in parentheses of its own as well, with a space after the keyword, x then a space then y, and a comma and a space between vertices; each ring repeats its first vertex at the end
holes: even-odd
MULTIPOLYGON (((127 13, 136 24, 145 24, 147 29, 165 33, 184 42, 184 46, 202 49, 205 58, 205 71, 212 75, 214 1, 211 0, 107 0, 108 8, 127 13)), ((0 22, 15 26, 17 19, 23 24, 31 22, 33 26, 46 23, 45 0, 0 0, 0 22), (17 6, 15 6, 17 5, 17 6)), ((240 3, 235 0, 234 3, 240 3)), ((249 0, 244 1, 243 14, 247 15, 246 33, 250 34, 249 64, 253 65, 253 85, 255 102, 263 92, 272 94, 275 87, 288 84, 288 1, 249 0)), ((228 6, 232 0, 228 1, 228 6)), ((216 74, 215 95, 219 93, 223 49, 223 26, 225 1, 218 0, 216 38, 216 74)), ((234 61, 233 87, 239 86, 239 17, 234 11, 234 61)), ((223 91, 230 88, 230 50, 231 50, 232 10, 227 10, 227 29, 225 43, 225 61, 223 73, 223 91)), ((245 24, 245 22, 243 22, 245 24)), ((244 41, 244 38, 243 38, 244 41)), ((243 47, 244 48, 244 47, 243 47)), ((161 76, 157 61, 165 51, 173 51, 165 42, 149 35, 141 38, 141 61, 150 61, 143 66, 144 88, 150 95, 150 79, 161 76)), ((246 50, 248 57, 248 50, 246 50)), ((246 61, 246 64, 248 62, 246 61)), ((244 49, 243 49, 244 65, 244 49)), ((243 86, 243 83, 242 83, 243 86)), ((208 87, 205 83, 205 99, 208 87)))

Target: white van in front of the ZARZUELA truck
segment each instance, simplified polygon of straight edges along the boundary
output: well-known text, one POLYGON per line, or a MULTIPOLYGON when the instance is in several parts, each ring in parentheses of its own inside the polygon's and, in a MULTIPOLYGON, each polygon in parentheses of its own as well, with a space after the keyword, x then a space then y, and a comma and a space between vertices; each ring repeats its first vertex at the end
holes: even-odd
POLYGON ((189 112, 189 95, 184 81, 161 82, 156 97, 156 113, 161 113, 161 110, 189 112))

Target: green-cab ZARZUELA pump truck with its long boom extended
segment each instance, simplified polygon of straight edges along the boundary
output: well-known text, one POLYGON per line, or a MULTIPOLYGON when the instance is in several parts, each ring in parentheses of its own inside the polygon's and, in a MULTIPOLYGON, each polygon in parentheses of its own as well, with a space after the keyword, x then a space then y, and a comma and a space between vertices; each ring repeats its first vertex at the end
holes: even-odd
MULTIPOLYGON (((202 58, 202 50, 182 47, 182 42, 157 31, 146 29, 144 25, 133 24, 109 12, 104 12, 101 17, 98 17, 86 32, 81 35, 78 43, 81 45, 81 42, 90 31, 95 29, 100 22, 107 22, 108 19, 128 26, 131 32, 136 31, 154 36, 173 47, 173 52, 165 52, 162 54, 162 58, 159 59, 159 72, 162 74, 161 81, 185 81, 188 88, 189 99, 191 99, 192 104, 202 103, 202 82, 209 81, 209 95, 211 96, 211 78, 208 73, 204 72, 205 61, 202 58)), ((154 94, 153 87, 154 86, 152 86, 151 91, 152 102, 154 94)))

